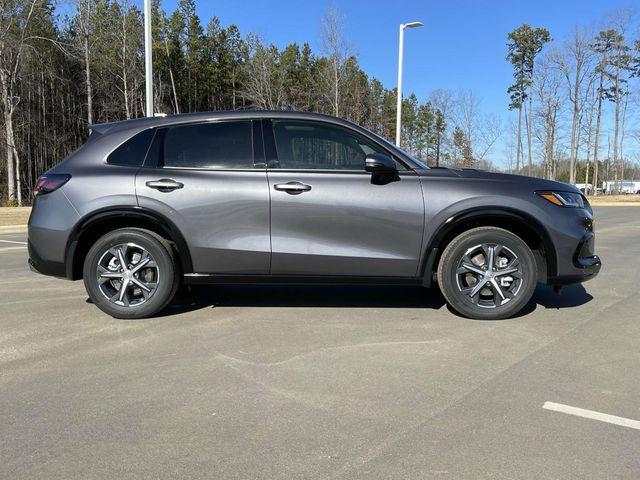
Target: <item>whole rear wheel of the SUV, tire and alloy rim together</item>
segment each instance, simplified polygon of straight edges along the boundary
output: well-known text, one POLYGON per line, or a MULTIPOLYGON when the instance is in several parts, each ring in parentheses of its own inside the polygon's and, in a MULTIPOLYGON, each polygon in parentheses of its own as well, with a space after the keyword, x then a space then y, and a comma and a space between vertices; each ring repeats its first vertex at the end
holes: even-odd
POLYGON ((141 228, 122 228, 99 238, 83 267, 84 285, 93 303, 108 315, 124 319, 146 318, 162 310, 178 289, 179 273, 171 245, 141 228))

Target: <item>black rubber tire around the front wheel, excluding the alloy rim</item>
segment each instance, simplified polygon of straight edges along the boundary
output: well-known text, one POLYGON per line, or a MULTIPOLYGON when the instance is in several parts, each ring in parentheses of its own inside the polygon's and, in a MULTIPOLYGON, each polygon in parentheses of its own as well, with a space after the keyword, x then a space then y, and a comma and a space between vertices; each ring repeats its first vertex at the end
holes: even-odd
POLYGON ((458 313, 479 320, 499 320, 518 313, 533 296, 537 284, 536 261, 531 249, 515 234, 494 227, 479 227, 456 237, 445 249, 438 266, 438 282, 449 305, 458 313), (458 261, 464 252, 479 243, 499 243, 511 249, 523 269, 523 285, 514 299, 495 308, 473 305, 460 292, 456 282, 458 261))

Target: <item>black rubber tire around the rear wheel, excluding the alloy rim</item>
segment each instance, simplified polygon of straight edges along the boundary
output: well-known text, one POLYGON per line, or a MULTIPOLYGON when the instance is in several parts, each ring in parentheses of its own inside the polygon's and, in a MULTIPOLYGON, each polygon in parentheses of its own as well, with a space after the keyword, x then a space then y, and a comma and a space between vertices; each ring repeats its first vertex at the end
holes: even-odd
POLYGON ((170 247, 152 232, 140 229, 120 229, 99 238, 91 247, 83 267, 84 285, 93 303, 103 312, 115 318, 145 318, 164 308, 173 298, 177 288, 177 267, 170 247), (109 248, 122 243, 135 243, 145 248, 155 259, 160 282, 149 300, 139 306, 121 307, 110 302, 100 291, 96 278, 96 266, 109 248))

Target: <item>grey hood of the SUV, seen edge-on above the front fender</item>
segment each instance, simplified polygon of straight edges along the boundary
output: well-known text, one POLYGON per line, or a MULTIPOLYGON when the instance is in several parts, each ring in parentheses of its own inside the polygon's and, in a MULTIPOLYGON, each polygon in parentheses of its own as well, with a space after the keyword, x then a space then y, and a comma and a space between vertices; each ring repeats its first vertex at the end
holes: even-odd
POLYGON ((494 173, 475 168, 448 168, 437 167, 417 170, 418 175, 425 177, 449 177, 489 182, 505 182, 522 184, 523 188, 532 190, 556 190, 561 192, 581 193, 580 190, 569 183, 545 180, 543 178, 528 177, 526 175, 513 175, 510 173, 494 173))

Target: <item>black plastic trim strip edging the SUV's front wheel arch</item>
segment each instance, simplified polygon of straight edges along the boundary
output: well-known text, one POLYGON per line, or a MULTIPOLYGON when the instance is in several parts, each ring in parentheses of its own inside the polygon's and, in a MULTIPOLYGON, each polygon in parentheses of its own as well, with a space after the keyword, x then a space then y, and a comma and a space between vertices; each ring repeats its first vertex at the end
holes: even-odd
POLYGON ((547 275, 552 277, 557 274, 557 252, 551 240, 548 230, 533 216, 522 210, 509 207, 473 207, 451 215, 440 224, 435 233, 431 236, 429 244, 423 256, 420 275, 423 278, 423 285, 430 287, 432 283, 432 274, 438 254, 444 249, 442 245, 447 236, 460 224, 469 220, 482 219, 486 221, 490 218, 499 218, 502 220, 516 220, 531 230, 534 230, 542 240, 542 245, 546 253, 547 275))

